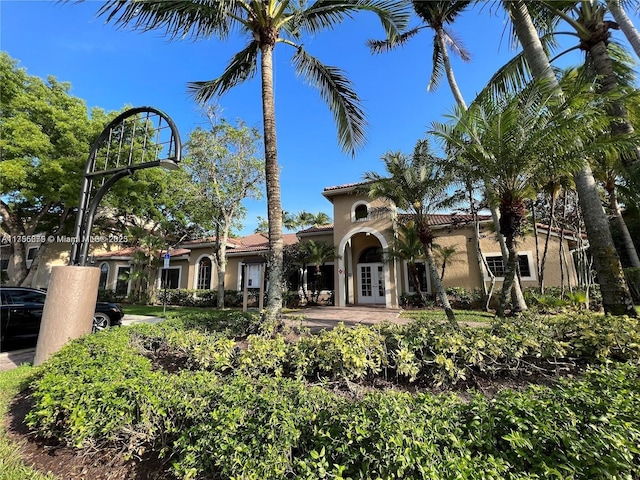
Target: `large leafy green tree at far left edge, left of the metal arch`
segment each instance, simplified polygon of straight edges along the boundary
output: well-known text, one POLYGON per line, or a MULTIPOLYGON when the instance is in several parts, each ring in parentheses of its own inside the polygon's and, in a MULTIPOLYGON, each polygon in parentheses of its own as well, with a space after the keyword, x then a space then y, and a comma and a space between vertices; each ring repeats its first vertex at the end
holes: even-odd
MULTIPOLYGON (((89 149, 107 121, 83 100, 69 94, 71 85, 28 75, 18 62, 0 52, 0 217, 2 230, 17 239, 68 234, 75 219, 79 186, 89 149)), ((13 262, 10 282, 28 279, 27 244, 9 245, 13 262)))

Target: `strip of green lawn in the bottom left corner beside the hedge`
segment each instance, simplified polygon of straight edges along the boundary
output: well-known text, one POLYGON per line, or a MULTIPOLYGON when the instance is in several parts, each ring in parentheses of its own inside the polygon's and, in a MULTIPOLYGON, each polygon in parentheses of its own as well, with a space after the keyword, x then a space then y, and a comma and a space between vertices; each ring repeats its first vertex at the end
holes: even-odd
MULTIPOLYGON (((0 372, 0 419, 4 419, 9 403, 29 383, 33 367, 21 366, 0 372)), ((0 422, 0 479, 2 480, 55 480, 52 475, 43 475, 25 465, 20 457, 20 447, 6 435, 4 422, 0 422)))

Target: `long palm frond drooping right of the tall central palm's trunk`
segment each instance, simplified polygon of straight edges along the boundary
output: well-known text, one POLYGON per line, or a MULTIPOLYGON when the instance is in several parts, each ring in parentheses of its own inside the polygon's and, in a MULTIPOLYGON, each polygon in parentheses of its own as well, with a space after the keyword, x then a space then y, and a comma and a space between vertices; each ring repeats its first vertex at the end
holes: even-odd
POLYGON ((299 47, 293 56, 296 73, 316 87, 333 113, 338 127, 338 144, 355 155, 365 143, 366 120, 351 81, 337 67, 327 66, 299 47))

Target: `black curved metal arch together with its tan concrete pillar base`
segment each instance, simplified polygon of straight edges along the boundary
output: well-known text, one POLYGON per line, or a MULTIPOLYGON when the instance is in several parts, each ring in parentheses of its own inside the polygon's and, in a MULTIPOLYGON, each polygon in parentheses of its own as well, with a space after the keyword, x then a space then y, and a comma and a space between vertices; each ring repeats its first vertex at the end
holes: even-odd
POLYGON ((68 266, 53 267, 34 365, 46 361, 69 339, 91 332, 100 270, 86 266, 93 220, 102 197, 121 178, 150 167, 178 168, 180 135, 173 121, 152 107, 118 115, 89 152, 68 266), (95 185, 94 182, 101 181, 95 185))

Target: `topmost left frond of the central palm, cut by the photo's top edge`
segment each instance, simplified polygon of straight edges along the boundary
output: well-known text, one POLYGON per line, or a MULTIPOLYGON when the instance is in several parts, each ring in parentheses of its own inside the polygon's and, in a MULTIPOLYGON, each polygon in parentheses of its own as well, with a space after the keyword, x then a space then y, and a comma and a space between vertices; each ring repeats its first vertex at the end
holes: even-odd
POLYGON ((164 29, 170 39, 226 38, 240 15, 237 0, 107 0, 98 12, 107 23, 134 30, 164 29))

